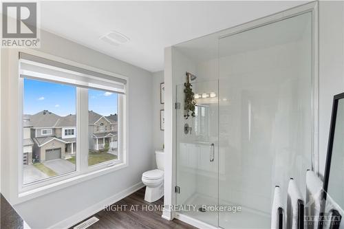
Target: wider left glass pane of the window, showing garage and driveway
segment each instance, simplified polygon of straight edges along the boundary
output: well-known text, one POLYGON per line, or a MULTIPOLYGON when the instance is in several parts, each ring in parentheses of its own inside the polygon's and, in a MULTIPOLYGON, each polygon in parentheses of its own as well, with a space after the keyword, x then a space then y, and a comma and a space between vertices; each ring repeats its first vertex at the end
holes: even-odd
POLYGON ((76 87, 24 78, 23 183, 76 170, 76 87))

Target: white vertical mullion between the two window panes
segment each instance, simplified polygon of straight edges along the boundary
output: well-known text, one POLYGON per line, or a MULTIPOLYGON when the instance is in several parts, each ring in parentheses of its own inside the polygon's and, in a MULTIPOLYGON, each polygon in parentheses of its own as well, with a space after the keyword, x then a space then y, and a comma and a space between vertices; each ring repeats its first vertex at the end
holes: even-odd
POLYGON ((78 106, 76 121, 77 168, 84 173, 88 170, 88 90, 78 87, 78 106))

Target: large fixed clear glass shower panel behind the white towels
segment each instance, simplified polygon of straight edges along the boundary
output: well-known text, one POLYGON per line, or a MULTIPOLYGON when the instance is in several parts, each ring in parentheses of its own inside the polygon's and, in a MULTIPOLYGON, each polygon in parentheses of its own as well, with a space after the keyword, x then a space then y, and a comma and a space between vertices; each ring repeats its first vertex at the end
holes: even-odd
POLYGON ((312 155, 312 14, 219 39, 222 228, 270 228, 275 186, 305 195, 312 155))

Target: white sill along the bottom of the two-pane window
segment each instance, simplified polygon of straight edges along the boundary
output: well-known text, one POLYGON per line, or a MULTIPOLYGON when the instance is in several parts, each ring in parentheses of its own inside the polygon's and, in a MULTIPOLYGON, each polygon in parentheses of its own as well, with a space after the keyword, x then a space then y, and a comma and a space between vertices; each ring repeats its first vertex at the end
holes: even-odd
MULTIPOLYGON (((113 166, 107 166, 105 168, 100 168, 95 171, 90 171, 89 173, 75 175, 73 177, 69 177, 67 179, 63 179, 60 181, 56 181, 52 184, 47 184, 45 186, 41 186, 39 188, 33 188, 30 190, 24 190, 19 193, 18 197, 11 201, 13 204, 20 204, 22 202, 28 201, 30 199, 34 199, 36 197, 40 197, 42 195, 47 195, 48 193, 53 193, 56 190, 61 190, 63 188, 67 188, 69 186, 73 186, 80 182, 85 182, 89 179, 93 179, 100 175, 105 175, 107 173, 111 173, 117 171, 122 168, 126 168, 128 164, 126 162, 122 162, 120 164, 114 164, 113 166)), ((75 172, 74 172, 75 173, 75 172)))

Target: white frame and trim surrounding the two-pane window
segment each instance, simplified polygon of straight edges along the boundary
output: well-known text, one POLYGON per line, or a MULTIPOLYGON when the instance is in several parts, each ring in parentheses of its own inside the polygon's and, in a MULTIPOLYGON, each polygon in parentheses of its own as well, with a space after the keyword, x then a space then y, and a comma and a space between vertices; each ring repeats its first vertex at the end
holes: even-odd
MULTIPOLYGON (((19 56, 18 51, 15 54, 19 56)), ((37 182, 33 182, 30 184, 23 184, 23 78, 20 77, 18 72, 18 83, 19 83, 19 131, 18 131, 18 146, 19 146, 19 153, 13 154, 14 157, 17 157, 17 168, 18 176, 17 176, 17 195, 13 195, 10 199, 13 203, 19 204, 23 201, 27 201, 29 199, 33 199, 39 197, 41 195, 46 195, 47 193, 52 193, 55 190, 59 190, 61 188, 65 188, 67 186, 72 186, 74 184, 78 184, 79 182, 86 181, 88 179, 94 179, 94 177, 98 177, 100 175, 105 175, 107 173, 111 173, 117 171, 121 168, 127 167, 128 164, 128 148, 129 148, 129 134, 128 134, 128 101, 129 101, 129 78, 127 76, 122 76, 119 74, 114 74, 113 72, 107 72, 103 69, 98 69, 96 67, 91 67, 88 65, 83 65, 80 63, 76 63, 74 61, 68 61, 64 58, 59 58, 56 56, 52 56, 50 54, 45 54, 36 50, 25 50, 26 53, 32 54, 35 56, 40 56, 42 58, 48 58, 52 61, 58 61, 60 63, 65 63, 67 65, 73 65, 75 67, 80 67, 83 69, 87 69, 89 71, 98 72, 100 74, 107 74, 108 76, 114 76, 116 78, 122 78, 127 81, 125 85, 125 94, 118 94, 118 129, 121 128, 121 133, 118 135, 118 139, 120 139, 120 143, 118 144, 118 159, 111 160, 108 162, 103 162, 100 164, 96 164, 94 166, 88 166, 88 91, 85 88, 77 87, 76 89, 76 129, 78 129, 78 135, 76 135, 76 171, 71 173, 66 173, 63 175, 56 175, 55 177, 49 177, 47 179, 42 179, 37 182), (83 112, 84 111, 84 112, 83 112), (86 111, 86 112, 85 112, 86 111), (84 125, 82 125, 84 124, 84 125), (83 136, 84 133, 85 135, 83 136), (80 153, 80 152, 85 153, 80 153), (87 152, 87 153, 86 153, 87 152)), ((19 60, 16 63, 17 69, 19 67, 19 60)), ((61 82, 60 82, 61 83, 61 82)), ((102 89, 100 89, 102 90, 102 89)), ((74 131, 76 133, 76 131, 74 131)))

